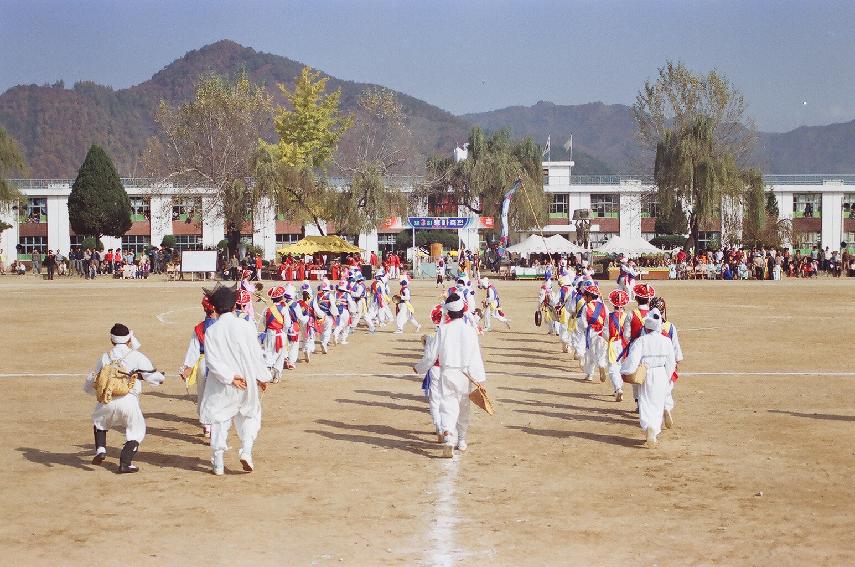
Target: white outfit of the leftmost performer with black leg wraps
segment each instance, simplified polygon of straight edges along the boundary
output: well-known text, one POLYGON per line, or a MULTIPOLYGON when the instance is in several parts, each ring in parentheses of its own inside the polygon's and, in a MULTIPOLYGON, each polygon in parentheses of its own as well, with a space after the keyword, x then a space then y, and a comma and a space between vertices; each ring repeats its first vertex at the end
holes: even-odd
MULTIPOLYGON (((110 352, 101 355, 95 369, 89 373, 83 385, 84 391, 95 395, 95 377, 111 360, 122 359, 122 364, 128 372, 134 370, 154 370, 151 361, 143 353, 131 350, 127 345, 115 345, 110 352)), ((144 372, 142 378, 153 386, 163 383, 163 374, 160 372, 144 372)), ((139 397, 142 393, 142 384, 136 381, 131 391, 119 398, 113 398, 109 403, 95 404, 92 413, 92 423, 97 429, 107 431, 113 427, 125 428, 125 440, 142 443, 145 437, 145 418, 140 409, 139 397)))

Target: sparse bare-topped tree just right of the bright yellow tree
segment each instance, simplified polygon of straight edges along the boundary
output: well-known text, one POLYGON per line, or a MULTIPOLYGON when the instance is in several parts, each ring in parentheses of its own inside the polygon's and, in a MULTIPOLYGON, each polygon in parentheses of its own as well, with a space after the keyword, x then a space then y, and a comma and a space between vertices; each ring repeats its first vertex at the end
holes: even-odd
POLYGON ((372 87, 359 97, 354 127, 342 138, 336 169, 348 184, 335 195, 330 218, 343 232, 372 230, 406 207, 392 177, 407 172, 414 153, 395 93, 372 87))

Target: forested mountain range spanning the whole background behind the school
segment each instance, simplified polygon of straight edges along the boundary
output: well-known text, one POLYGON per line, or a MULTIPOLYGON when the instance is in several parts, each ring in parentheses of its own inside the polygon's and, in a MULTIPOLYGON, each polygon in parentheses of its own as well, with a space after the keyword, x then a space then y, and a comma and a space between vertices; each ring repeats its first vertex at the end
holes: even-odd
MULTIPOLYGON (((155 132, 160 100, 182 102, 193 96, 200 73, 234 75, 245 68, 279 98, 276 83, 293 86, 304 64, 263 53, 230 40, 190 51, 127 89, 91 81, 66 89, 21 85, 0 95, 0 125, 24 148, 35 177, 73 177, 89 145, 98 143, 113 157, 122 175, 144 175, 139 156, 155 132)), ((329 76, 329 75, 325 75, 329 76)), ((329 88, 342 90, 342 107, 351 110, 368 83, 329 76, 329 88)), ((638 146, 630 107, 592 102, 558 105, 540 101, 488 112, 454 116, 423 100, 397 93, 409 118, 419 157, 450 153, 465 141, 472 125, 486 130, 511 128, 515 137, 531 136, 542 146, 551 137, 551 158, 567 159, 562 147, 573 135, 575 174, 640 173, 650 158, 638 146)), ((855 120, 759 134, 757 163, 766 173, 855 172, 855 120)))

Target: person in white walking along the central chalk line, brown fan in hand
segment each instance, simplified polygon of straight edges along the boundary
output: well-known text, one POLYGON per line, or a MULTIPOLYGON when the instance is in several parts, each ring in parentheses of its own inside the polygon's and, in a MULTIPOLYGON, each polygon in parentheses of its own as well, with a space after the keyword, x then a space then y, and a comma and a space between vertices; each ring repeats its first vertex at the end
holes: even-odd
MULTIPOLYGON (((471 384, 487 379, 478 344, 478 333, 463 320, 463 299, 451 295, 445 301, 451 319, 440 325, 436 340, 425 348, 422 360, 439 360, 439 418, 442 426, 443 457, 453 457, 455 447, 467 448, 469 392, 471 384)), ((415 367, 413 370, 417 370, 415 367)))

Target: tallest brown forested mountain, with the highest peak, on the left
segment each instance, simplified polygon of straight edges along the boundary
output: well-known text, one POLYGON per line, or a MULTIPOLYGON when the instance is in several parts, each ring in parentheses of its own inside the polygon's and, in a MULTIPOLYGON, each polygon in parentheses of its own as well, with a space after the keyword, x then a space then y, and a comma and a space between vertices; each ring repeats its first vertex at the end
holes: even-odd
MULTIPOLYGON (((34 177, 74 177, 92 143, 104 146, 122 175, 144 175, 139 156, 155 132, 158 104, 192 98, 199 74, 234 76, 245 68, 251 80, 267 85, 281 102, 276 84, 292 88, 303 67, 298 61, 222 40, 188 52, 127 89, 90 81, 75 83, 71 89, 61 82, 12 87, 0 95, 0 125, 21 143, 34 177)), ((341 88, 345 110, 355 108, 363 90, 376 86, 325 76, 328 89, 341 88)), ((422 154, 451 152, 466 139, 470 128, 466 121, 415 97, 396 94, 422 154)))

